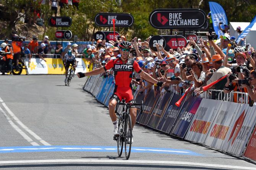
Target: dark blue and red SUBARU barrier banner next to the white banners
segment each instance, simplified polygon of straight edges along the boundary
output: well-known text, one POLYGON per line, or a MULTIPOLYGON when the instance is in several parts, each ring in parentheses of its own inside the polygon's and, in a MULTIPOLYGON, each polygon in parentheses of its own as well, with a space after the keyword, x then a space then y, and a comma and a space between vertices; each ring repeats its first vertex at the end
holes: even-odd
POLYGON ((201 103, 202 98, 196 97, 188 97, 186 98, 179 117, 176 120, 172 133, 174 135, 180 136, 184 138, 186 132, 188 131, 188 127, 190 126, 190 122, 193 120, 194 114, 201 103))

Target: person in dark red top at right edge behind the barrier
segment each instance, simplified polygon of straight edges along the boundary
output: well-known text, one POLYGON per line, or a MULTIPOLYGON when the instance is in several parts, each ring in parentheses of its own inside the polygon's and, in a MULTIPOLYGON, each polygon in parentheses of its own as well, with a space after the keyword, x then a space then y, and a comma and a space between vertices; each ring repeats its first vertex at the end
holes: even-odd
POLYGON ((241 86, 245 87, 248 94, 254 102, 256 102, 256 70, 251 71, 249 81, 241 81, 241 86))

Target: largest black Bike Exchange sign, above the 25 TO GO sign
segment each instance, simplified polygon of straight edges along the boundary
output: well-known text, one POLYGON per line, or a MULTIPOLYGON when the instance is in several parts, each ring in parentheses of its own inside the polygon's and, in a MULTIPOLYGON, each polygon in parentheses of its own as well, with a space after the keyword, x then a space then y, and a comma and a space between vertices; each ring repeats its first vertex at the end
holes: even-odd
POLYGON ((149 15, 149 23, 156 29, 199 29, 206 22, 200 9, 156 9, 149 15))

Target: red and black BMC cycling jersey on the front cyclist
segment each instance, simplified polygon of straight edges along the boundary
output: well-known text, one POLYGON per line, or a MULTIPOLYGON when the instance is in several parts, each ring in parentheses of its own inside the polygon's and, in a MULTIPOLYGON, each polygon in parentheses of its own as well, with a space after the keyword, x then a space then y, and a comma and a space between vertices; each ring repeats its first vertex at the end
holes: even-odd
POLYGON ((135 70, 137 73, 142 71, 134 59, 128 59, 126 61, 126 63, 123 63, 120 58, 112 59, 104 66, 105 71, 113 68, 113 77, 117 87, 131 87, 133 71, 135 70))

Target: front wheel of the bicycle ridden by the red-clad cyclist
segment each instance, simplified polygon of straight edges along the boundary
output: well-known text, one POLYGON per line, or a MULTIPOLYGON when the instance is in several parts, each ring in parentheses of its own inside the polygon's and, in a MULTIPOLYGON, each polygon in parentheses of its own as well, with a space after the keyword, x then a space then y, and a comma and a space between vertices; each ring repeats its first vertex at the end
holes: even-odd
POLYGON ((131 115, 128 114, 125 120, 125 157, 129 159, 131 154, 131 141, 132 141, 132 127, 131 127, 131 115), (130 131, 130 135, 127 134, 128 130, 130 131), (128 143, 130 140, 130 143, 128 143))

